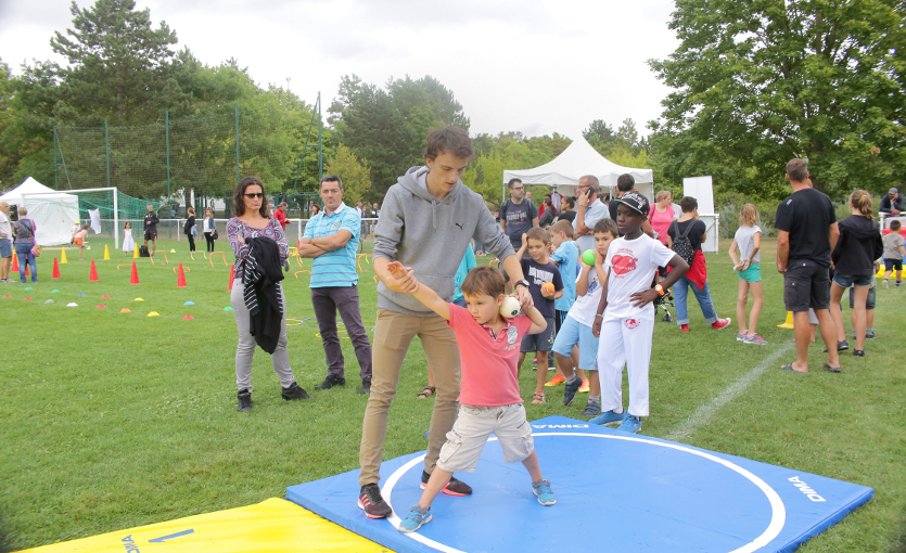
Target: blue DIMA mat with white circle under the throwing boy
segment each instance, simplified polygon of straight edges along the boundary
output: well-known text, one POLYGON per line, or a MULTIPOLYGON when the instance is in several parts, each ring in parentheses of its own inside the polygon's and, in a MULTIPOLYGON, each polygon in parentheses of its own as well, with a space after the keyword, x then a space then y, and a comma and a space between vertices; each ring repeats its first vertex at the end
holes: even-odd
POLYGON ((824 476, 626 434, 563 416, 532 423, 557 504, 541 506, 522 464, 503 463, 492 437, 470 497, 441 494, 434 518, 396 529, 421 496, 424 451, 381 465, 394 516, 358 509, 358 471, 286 488, 286 499, 391 550, 790 552, 871 499, 824 476))

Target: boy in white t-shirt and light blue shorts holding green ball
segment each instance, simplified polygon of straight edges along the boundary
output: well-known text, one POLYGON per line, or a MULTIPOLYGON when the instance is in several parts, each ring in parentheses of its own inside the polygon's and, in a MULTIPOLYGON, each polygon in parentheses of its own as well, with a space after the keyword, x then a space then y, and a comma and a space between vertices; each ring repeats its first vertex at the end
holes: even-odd
POLYGON ((602 263, 611 243, 620 236, 620 231, 616 230, 616 223, 613 222, 613 219, 607 217, 595 223, 594 235, 595 266, 582 261, 582 271, 576 279, 576 301, 570 309, 560 333, 553 340, 557 368, 566 382, 563 390, 564 406, 571 404, 576 397, 576 391, 582 389, 579 387, 583 384, 580 382, 583 377, 580 371, 587 371, 589 376, 588 402, 585 406, 583 416, 601 414, 601 386, 595 362, 598 357, 598 338, 591 334, 591 325, 595 323, 595 310, 598 309, 598 303, 601 298, 601 284, 607 279, 602 263), (577 363, 570 356, 576 344, 578 344, 577 363), (578 376, 573 373, 574 366, 579 372, 578 376))

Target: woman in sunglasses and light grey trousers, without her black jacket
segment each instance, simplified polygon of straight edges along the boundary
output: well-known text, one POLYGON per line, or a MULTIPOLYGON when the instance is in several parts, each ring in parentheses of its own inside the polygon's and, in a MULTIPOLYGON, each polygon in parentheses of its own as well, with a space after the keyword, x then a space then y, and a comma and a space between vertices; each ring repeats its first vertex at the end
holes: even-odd
MULTIPOLYGON (((290 257, 290 248, 286 244, 286 236, 277 219, 272 219, 267 209, 267 198, 264 195, 264 185, 255 177, 245 177, 240 181, 233 194, 233 215, 227 221, 227 236, 230 246, 235 254, 235 272, 233 274, 233 290, 230 294, 230 304, 235 313, 235 324, 239 331, 239 345, 235 349, 235 383, 239 389, 240 411, 252 410, 252 358, 255 355, 255 337, 250 331, 250 313, 244 299, 244 269, 248 259, 251 246, 246 239, 267 237, 277 243, 280 252, 280 261, 290 257)), ((283 317, 280 321, 280 337, 277 348, 270 359, 273 370, 280 378, 283 387, 283 399, 308 399, 310 396, 299 387, 290 368, 290 356, 286 350, 286 299, 280 283, 280 297, 283 299, 283 317)))

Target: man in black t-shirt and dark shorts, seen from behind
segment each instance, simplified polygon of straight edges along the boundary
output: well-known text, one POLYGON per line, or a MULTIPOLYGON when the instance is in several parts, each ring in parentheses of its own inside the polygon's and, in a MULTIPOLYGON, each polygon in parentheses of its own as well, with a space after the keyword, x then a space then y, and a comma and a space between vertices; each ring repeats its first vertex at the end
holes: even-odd
POLYGON ((828 348, 825 369, 839 373, 837 327, 828 311, 830 253, 840 236, 837 215, 830 198, 812 188, 805 159, 792 159, 787 164, 787 180, 793 193, 777 207, 774 227, 779 231, 777 270, 783 274, 783 303, 787 310, 793 312, 796 360, 783 369, 808 372, 808 308, 812 308, 828 348))

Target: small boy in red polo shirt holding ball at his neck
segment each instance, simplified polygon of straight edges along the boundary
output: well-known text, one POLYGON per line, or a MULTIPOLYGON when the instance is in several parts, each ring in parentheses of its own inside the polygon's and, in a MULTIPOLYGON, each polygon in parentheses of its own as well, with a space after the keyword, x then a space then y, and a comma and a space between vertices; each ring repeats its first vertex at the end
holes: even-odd
MULTIPOLYGON (((404 269, 396 261, 387 269, 404 269), (391 267, 393 266, 393 267, 391 267)), ((532 426, 519 395, 516 360, 521 338, 544 332, 547 322, 534 307, 525 305, 512 319, 505 319, 500 306, 505 299, 503 274, 493 267, 472 269, 460 291, 468 308, 447 304, 433 290, 417 284, 412 295, 447 320, 456 334, 462 360, 462 387, 459 416, 447 442, 441 449, 437 467, 431 473, 418 504, 399 524, 399 531, 412 532, 431 520, 431 502, 444 489, 452 473, 473 473, 488 436, 494 433, 503 448, 507 463, 522 462, 532 476, 532 489, 538 503, 557 503, 550 483, 541 476, 538 455, 532 440, 532 426)))

